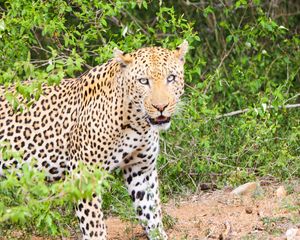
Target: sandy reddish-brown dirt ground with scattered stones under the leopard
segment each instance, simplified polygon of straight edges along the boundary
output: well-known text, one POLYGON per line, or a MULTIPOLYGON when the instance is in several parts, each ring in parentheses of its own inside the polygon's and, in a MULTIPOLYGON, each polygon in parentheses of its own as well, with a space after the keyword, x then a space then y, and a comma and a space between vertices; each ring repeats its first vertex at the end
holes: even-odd
MULTIPOLYGON (((261 182, 258 188, 244 195, 234 195, 231 191, 230 188, 199 191, 165 204, 164 225, 169 239, 300 240, 299 181, 285 185, 261 182), (291 229, 294 235, 287 237, 291 229)), ((147 239, 138 224, 117 217, 108 217, 106 224, 110 240, 147 239)), ((78 233, 75 235, 62 240, 80 239, 78 233)))

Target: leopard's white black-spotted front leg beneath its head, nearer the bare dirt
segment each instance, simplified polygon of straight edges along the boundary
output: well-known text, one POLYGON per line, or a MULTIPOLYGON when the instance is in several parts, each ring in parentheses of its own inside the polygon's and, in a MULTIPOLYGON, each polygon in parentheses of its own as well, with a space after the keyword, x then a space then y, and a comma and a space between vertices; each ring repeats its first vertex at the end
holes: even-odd
MULTIPOLYGON (((124 178, 137 216, 151 240, 165 240, 159 200, 156 161, 151 155, 136 154, 137 163, 124 168, 124 178), (150 158, 150 159, 149 159, 150 158)), ((131 158, 133 162, 136 159, 131 158)))

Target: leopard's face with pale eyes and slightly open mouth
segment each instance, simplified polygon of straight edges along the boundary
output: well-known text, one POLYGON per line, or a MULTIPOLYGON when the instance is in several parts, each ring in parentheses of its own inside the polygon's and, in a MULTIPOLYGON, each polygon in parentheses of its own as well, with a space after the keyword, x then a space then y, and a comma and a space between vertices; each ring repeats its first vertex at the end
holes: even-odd
POLYGON ((145 121, 167 129, 184 87, 184 55, 187 42, 176 50, 152 47, 119 55, 128 95, 145 121), (127 60, 127 61, 126 61, 127 60))

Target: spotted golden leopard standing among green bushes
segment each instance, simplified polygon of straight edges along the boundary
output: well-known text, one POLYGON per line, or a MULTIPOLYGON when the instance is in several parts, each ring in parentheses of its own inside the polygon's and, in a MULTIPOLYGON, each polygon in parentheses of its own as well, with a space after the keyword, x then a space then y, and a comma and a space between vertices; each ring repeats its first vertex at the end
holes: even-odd
MULTIPOLYGON (((170 127, 184 93, 187 51, 186 40, 174 49, 148 46, 126 53, 116 48, 110 60, 81 76, 42 85, 39 99, 24 111, 15 111, 5 97, 16 88, 1 86, 0 142, 22 152, 22 159, 4 161, 0 153, 0 175, 32 159, 49 181, 72 173, 79 163, 100 163, 109 173, 120 169, 147 238, 167 239, 159 135, 170 127)), ((82 239, 107 239, 101 205, 98 194, 75 204, 82 239)))

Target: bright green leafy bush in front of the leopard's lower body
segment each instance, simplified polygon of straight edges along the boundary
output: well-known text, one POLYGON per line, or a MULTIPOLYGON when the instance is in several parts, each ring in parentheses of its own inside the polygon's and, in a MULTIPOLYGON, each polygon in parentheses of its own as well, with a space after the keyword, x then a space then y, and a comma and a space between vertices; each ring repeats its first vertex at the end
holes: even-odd
POLYGON ((109 186, 106 172, 82 164, 64 180, 49 183, 34 163, 10 169, 0 182, 0 236, 23 228, 38 229, 44 234, 68 234, 64 229, 73 225, 74 204, 94 193, 102 194, 109 186))

